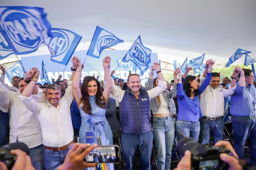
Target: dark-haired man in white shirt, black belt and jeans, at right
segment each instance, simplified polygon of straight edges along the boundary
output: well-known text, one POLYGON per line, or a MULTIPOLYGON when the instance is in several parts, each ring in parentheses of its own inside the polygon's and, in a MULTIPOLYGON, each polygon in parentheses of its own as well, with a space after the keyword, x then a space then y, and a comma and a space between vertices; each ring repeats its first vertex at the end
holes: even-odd
MULTIPOLYGON (((207 72, 206 69, 201 77, 200 86, 204 82, 207 72)), ((233 75, 235 75, 235 71, 233 75)), ((224 122, 224 98, 231 96, 235 92, 235 79, 232 79, 228 89, 219 88, 220 75, 212 73, 211 82, 205 91, 201 94, 200 107, 203 117, 200 122, 200 140, 202 144, 208 144, 211 133, 213 134, 214 143, 223 140, 223 132, 225 128, 224 122)))

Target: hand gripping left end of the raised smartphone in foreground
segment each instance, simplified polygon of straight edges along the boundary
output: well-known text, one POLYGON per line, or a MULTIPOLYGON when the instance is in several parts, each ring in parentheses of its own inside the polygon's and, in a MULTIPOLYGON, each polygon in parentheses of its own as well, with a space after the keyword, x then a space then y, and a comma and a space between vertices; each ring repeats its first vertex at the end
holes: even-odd
POLYGON ((94 167, 97 163, 87 163, 84 161, 85 157, 91 150, 97 147, 97 144, 90 145, 84 143, 75 143, 70 148, 64 163, 58 167, 58 170, 81 170, 88 167, 94 167))

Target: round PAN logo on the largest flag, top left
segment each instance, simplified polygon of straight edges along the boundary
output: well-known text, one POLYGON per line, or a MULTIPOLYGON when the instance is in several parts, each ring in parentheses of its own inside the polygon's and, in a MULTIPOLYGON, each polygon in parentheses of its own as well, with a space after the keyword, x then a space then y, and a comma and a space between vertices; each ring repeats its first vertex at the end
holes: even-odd
POLYGON ((31 10, 6 8, 1 12, 1 27, 15 47, 34 49, 41 44, 40 40, 44 39, 42 33, 47 30, 44 30, 42 20, 29 11, 31 10))

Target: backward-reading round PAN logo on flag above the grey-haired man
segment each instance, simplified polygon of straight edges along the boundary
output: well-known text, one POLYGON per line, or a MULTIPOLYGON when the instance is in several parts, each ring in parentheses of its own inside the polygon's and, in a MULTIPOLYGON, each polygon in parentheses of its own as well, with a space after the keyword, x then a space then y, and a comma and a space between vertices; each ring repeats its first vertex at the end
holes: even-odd
POLYGON ((50 39, 49 47, 56 52, 54 57, 57 57, 66 52, 70 46, 70 41, 68 35, 64 31, 52 29, 51 33, 54 37, 50 39))

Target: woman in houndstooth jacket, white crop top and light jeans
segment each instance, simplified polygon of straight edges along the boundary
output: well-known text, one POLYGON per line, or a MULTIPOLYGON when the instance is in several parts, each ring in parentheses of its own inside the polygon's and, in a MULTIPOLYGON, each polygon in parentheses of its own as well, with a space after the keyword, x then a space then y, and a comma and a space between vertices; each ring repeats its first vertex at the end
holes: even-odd
MULTIPOLYGON (((178 68, 179 70, 179 68, 178 68)), ((171 150, 174 139, 174 124, 170 116, 169 109, 174 110, 175 105, 171 99, 177 96, 177 74, 174 71, 174 88, 169 91, 166 90, 157 97, 149 101, 149 108, 153 113, 153 134, 155 144, 157 146, 157 169, 164 170, 171 167, 171 150)), ((153 80, 154 70, 150 72, 147 80, 146 90, 151 90, 158 86, 158 78, 153 80)))

